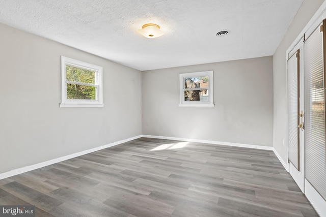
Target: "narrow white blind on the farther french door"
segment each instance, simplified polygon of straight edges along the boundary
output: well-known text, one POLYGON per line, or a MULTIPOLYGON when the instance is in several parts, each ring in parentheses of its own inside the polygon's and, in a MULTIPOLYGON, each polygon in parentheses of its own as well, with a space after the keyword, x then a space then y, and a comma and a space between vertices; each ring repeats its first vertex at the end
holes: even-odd
POLYGON ((298 83, 297 83, 297 57, 294 53, 287 61, 287 107, 288 107, 288 158, 293 166, 299 170, 298 165, 298 83))

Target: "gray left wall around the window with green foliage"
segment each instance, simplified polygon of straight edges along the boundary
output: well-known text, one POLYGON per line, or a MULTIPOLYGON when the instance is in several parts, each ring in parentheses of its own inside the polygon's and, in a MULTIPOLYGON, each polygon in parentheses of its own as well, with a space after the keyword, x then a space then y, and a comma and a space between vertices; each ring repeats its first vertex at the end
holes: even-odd
POLYGON ((142 134, 141 72, 0 24, 0 173, 142 134), (104 108, 60 108, 61 55, 103 67, 104 108))

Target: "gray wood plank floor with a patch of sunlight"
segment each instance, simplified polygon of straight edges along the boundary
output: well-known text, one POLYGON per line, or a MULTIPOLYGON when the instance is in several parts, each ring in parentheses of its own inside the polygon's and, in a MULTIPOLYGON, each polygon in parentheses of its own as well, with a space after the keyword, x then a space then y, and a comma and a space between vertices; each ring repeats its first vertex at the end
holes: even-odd
POLYGON ((273 151, 140 138, 0 180, 36 216, 318 216, 273 151))

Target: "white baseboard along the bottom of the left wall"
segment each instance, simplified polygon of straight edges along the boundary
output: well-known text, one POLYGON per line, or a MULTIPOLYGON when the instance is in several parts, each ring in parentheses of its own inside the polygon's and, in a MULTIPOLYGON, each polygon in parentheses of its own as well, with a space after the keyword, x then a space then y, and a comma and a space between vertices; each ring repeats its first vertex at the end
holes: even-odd
POLYGON ((41 167, 45 167, 45 166, 48 166, 48 165, 51 165, 51 164, 56 164, 56 163, 59 163, 59 162, 62 162, 62 161, 66 161, 66 160, 69 160, 69 159, 72 159, 72 158, 76 158, 76 157, 82 156, 84 154, 88 154, 88 153, 98 151, 98 150, 101 150, 101 149, 104 149, 104 148, 119 145, 119 144, 122 144, 124 142, 129 142, 131 140, 138 139, 140 137, 142 137, 142 136, 140 135, 140 136, 131 137, 131 138, 120 140, 120 141, 113 142, 113 143, 110 143, 110 144, 102 145, 102 146, 99 146, 99 147, 96 147, 96 148, 91 148, 91 149, 88 149, 88 150, 84 150, 84 151, 80 151, 80 152, 77 152, 77 153, 69 154, 67 156, 63 156, 63 157, 60 157, 60 158, 56 158, 56 159, 41 162, 41 163, 38 163, 38 164, 34 164, 34 165, 30 165, 30 166, 26 166, 26 167, 14 169, 14 170, 10 170, 8 172, 1 173, 0 174, 0 180, 4 179, 4 178, 11 177, 11 176, 14 176, 14 175, 18 175, 18 174, 21 174, 21 173, 24 173, 24 172, 29 172, 31 170, 39 169, 41 167))

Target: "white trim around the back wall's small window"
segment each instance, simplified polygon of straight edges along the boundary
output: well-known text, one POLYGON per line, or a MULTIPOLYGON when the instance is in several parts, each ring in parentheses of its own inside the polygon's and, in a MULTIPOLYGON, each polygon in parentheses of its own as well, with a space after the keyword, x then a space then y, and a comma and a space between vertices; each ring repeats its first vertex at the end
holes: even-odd
POLYGON ((180 107, 213 107, 213 71, 204 71, 204 72, 191 72, 191 73, 182 73, 179 74, 180 82, 180 107), (209 77, 208 83, 208 101, 184 101, 184 78, 189 77, 209 77))

